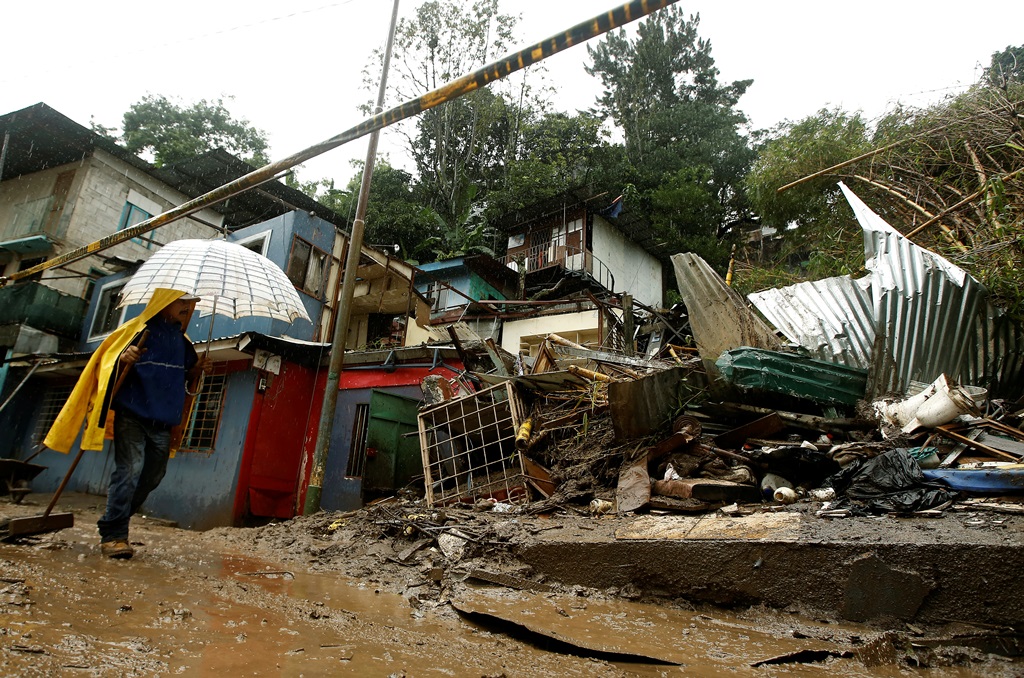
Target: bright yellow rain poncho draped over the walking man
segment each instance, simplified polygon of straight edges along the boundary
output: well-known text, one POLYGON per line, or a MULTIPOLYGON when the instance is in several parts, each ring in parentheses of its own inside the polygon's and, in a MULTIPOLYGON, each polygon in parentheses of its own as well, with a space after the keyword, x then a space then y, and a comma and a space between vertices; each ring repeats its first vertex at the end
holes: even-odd
MULTIPOLYGON (((50 432, 43 440, 50 450, 71 452, 75 438, 85 422, 85 432, 82 433, 82 450, 102 450, 106 419, 111 400, 111 386, 116 383, 120 363, 118 358, 145 329, 145 324, 156 316, 172 301, 183 295, 178 290, 158 289, 145 309, 137 317, 126 322, 112 332, 103 343, 99 344, 89 362, 85 365, 82 375, 78 378, 74 390, 57 415, 50 432)), ((189 409, 185 408, 187 418, 189 409)), ((180 438, 179 438, 180 439, 180 438)), ((172 449, 176 448, 172 441, 172 449)), ((172 450, 173 451, 173 450, 172 450)))

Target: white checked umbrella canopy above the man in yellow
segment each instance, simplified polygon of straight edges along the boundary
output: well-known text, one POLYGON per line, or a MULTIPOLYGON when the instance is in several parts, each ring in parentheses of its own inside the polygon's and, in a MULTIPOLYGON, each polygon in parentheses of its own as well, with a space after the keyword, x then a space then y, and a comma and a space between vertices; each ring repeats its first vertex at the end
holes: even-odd
POLYGON ((202 298, 201 313, 238 320, 258 315, 288 323, 309 320, 295 286, 275 263, 222 240, 178 240, 164 245, 125 284, 121 305, 146 303, 157 288, 202 298))

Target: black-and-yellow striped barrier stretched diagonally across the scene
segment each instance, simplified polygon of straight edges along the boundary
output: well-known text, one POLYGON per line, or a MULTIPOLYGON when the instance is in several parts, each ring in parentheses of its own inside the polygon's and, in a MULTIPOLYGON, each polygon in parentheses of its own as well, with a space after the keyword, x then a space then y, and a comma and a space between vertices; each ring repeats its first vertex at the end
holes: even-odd
POLYGON ((324 141, 299 151, 298 153, 292 154, 291 156, 288 156, 287 158, 275 163, 265 165, 264 167, 254 170, 245 176, 214 188, 209 193, 182 203, 181 205, 178 205, 163 214, 158 214, 157 216, 151 217, 145 221, 141 221, 130 228, 125 228, 117 234, 112 234, 111 236, 101 238, 94 243, 90 243, 84 247, 61 254, 60 256, 54 257, 53 259, 45 261, 39 265, 17 271, 10 277, 0 277, 0 287, 6 285, 10 281, 17 281, 23 278, 28 278, 29 276, 42 272, 54 266, 61 266, 71 261, 82 259, 90 254, 95 254, 96 252, 104 250, 109 247, 113 247, 114 245, 136 238, 140 234, 147 230, 159 228, 176 219, 180 219, 210 207, 211 205, 216 205, 217 203, 238 196, 239 194, 242 194, 259 183, 273 178, 273 176, 280 172, 289 170, 297 165, 301 165, 302 163, 325 154, 328 151, 337 149, 338 146, 357 139, 360 136, 366 136, 371 132, 383 129, 384 127, 393 125, 407 118, 412 118, 413 116, 419 115, 424 111, 429 111, 430 109, 436 108, 441 103, 445 103, 465 94, 469 94, 470 92, 476 91, 481 87, 485 87, 496 80, 500 80, 517 71, 521 71, 522 69, 537 63, 542 59, 563 51, 581 42, 586 42, 591 38, 607 33, 612 29, 616 29, 625 26, 626 24, 643 18, 647 14, 674 4, 678 0, 633 0, 633 2, 628 2, 621 7, 598 14, 594 18, 578 24, 563 33, 552 36, 547 40, 543 40, 535 45, 526 47, 525 49, 521 49, 518 52, 510 54, 502 59, 493 61, 492 63, 477 69, 473 73, 457 78, 456 80, 453 80, 437 89, 433 89, 418 98, 406 101, 404 103, 396 105, 393 109, 367 118, 358 125, 351 127, 340 134, 332 136, 329 139, 325 139, 324 141))

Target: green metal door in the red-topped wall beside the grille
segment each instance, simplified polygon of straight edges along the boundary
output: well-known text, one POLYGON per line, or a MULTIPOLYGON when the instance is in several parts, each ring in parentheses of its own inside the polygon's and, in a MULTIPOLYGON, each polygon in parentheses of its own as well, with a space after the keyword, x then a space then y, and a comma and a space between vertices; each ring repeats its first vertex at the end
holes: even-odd
POLYGON ((420 401, 385 391, 370 392, 367 465, 362 493, 393 492, 423 475, 417 415, 420 401))

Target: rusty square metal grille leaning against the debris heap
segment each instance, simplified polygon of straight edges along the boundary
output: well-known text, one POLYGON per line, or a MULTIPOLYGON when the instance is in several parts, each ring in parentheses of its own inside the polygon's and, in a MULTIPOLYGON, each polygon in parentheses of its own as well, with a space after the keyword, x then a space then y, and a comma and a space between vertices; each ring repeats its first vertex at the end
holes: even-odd
POLYGON ((510 383, 439 402, 419 415, 429 506, 528 499, 515 435, 523 409, 510 383))

